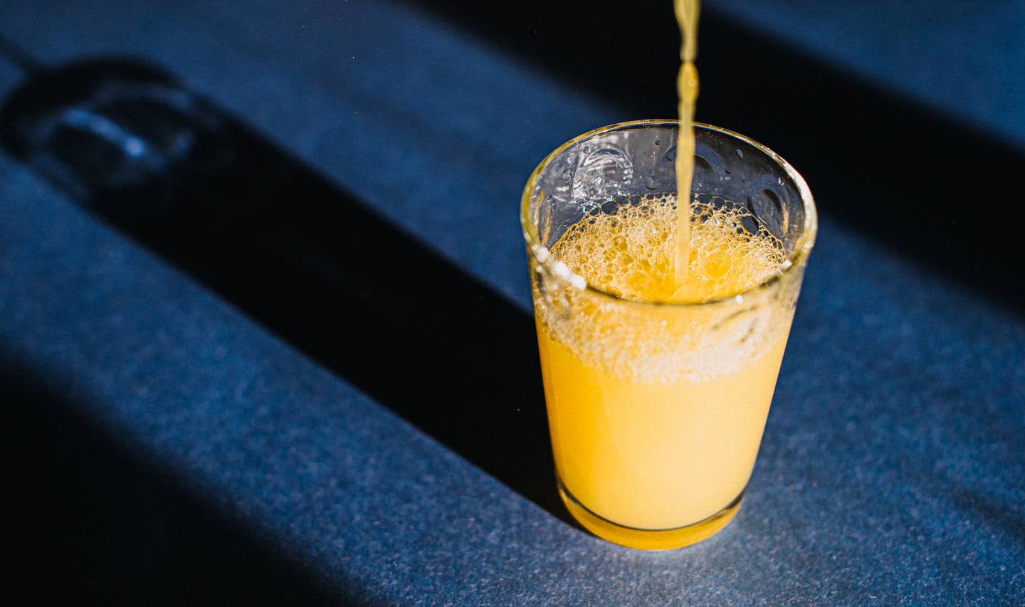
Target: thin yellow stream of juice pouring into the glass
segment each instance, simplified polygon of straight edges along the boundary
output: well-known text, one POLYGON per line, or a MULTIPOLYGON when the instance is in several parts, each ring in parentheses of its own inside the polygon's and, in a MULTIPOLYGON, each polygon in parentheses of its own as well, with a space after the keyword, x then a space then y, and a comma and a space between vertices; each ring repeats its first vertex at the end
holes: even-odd
POLYGON ((694 102, 698 96, 698 70, 694 59, 698 52, 699 0, 673 0, 676 23, 680 25, 680 74, 676 93, 680 96, 680 130, 676 134, 676 246, 673 259, 675 292, 673 299, 685 296, 687 270, 691 254, 691 180, 694 176, 694 102))

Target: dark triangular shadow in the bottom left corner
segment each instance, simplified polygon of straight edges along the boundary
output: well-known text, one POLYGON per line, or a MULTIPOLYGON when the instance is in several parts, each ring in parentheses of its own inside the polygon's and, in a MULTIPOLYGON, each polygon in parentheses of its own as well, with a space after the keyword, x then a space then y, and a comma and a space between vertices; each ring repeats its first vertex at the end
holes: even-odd
POLYGON ((9 588, 36 604, 360 605, 134 457, 31 369, 0 366, 9 588))

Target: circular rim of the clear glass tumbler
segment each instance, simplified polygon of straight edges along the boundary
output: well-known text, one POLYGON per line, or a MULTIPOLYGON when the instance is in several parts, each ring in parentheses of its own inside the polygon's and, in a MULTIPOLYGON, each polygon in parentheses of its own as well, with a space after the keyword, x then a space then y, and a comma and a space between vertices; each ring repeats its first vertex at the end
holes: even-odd
POLYGON ((797 192, 801 195, 801 202, 805 209, 805 230, 801 237, 797 239, 793 247, 793 251, 787 256, 787 258, 780 265, 780 267, 767 277, 761 283, 754 285, 753 287, 746 289, 743 292, 736 293, 733 295, 723 295, 721 297, 714 297, 705 301, 668 301, 668 300, 644 300, 644 299, 632 299, 630 297, 623 297, 616 295, 615 293, 610 293, 608 291, 602 290, 589 282, 587 282, 582 276, 576 274, 569 269, 568 266, 559 261, 551 255, 551 251, 541 244, 540 234, 538 234, 538 227, 534 225, 531 220, 530 204, 533 198, 534 189, 537 186, 537 180, 541 175, 541 172, 547 168, 548 164, 551 163, 559 155, 563 152, 583 141, 599 134, 604 134, 608 132, 613 132, 617 130, 625 130, 631 128, 649 128, 653 126, 675 126, 680 127, 680 121, 673 119, 646 119, 646 120, 631 120, 628 122, 618 122, 616 124, 610 124, 608 126, 603 126, 601 128, 596 128, 589 130, 583 134, 577 135, 572 139, 566 141, 562 146, 556 148, 551 151, 544 159, 537 165, 534 172, 531 173, 530 178, 527 179, 527 186, 523 191, 523 198, 520 204, 520 226, 523 229, 523 237, 527 243, 527 253, 531 255, 535 261, 545 268, 554 271, 557 275, 562 276, 569 280, 570 284, 576 286, 581 291, 590 292, 600 298, 606 298, 614 301, 622 301, 638 306, 665 306, 670 308, 694 308, 700 306, 714 306, 716 304, 722 304, 724 301, 743 301, 744 297, 747 295, 753 295, 755 293, 763 292, 777 282, 781 281, 784 277, 789 276, 797 271, 798 268, 806 261, 808 255, 812 251, 812 247, 815 244, 815 236, 818 232, 818 214, 815 210, 815 199, 812 197, 812 191, 808 188, 808 184, 805 178, 801 176, 801 173, 793 168, 782 156, 776 154, 768 147, 755 141, 754 139, 742 135, 738 132, 722 128, 719 126, 713 126, 710 124, 705 124, 703 122, 695 122, 694 128, 700 130, 708 130, 717 133, 725 134, 729 137, 739 139, 766 156, 768 156, 773 162, 777 163, 783 168, 783 171, 787 174, 790 179, 793 180, 797 188, 797 192))

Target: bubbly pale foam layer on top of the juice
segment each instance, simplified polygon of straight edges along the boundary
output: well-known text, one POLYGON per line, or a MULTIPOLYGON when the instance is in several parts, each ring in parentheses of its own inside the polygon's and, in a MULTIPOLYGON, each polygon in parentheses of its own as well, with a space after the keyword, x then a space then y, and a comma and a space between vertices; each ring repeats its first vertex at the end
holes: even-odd
POLYGON ((590 286, 620 299, 548 285, 537 318, 543 330, 586 364, 637 381, 706 379, 761 358, 785 336, 772 322, 779 301, 742 309, 624 306, 706 302, 744 293, 779 271, 779 239, 741 205, 707 195, 691 205, 687 281, 675 283, 675 196, 632 197, 603 205, 571 227, 551 253, 590 286))

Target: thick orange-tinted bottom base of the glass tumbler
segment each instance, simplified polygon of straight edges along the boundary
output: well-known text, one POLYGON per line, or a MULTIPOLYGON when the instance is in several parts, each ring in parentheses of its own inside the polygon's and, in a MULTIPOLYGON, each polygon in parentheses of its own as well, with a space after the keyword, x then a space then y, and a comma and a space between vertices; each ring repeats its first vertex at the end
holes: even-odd
POLYGON ((602 539, 639 550, 669 550, 707 539, 733 520, 744 499, 744 492, 741 491, 740 495, 737 495, 726 508, 692 525, 675 529, 637 529, 618 525, 587 510, 573 497, 573 494, 563 484, 562 479, 559 479, 559 495, 563 498, 563 503, 566 504, 566 509, 570 511, 573 518, 585 529, 602 539))

